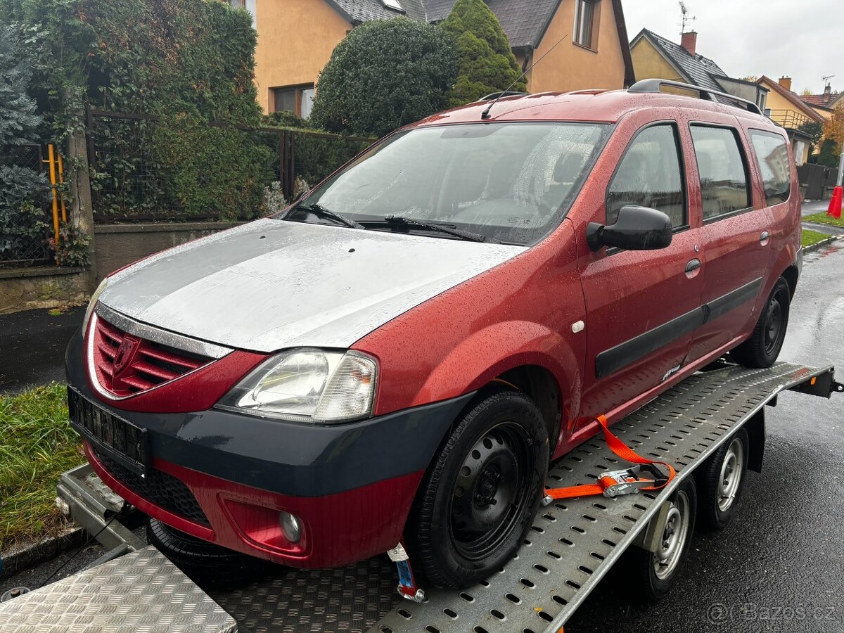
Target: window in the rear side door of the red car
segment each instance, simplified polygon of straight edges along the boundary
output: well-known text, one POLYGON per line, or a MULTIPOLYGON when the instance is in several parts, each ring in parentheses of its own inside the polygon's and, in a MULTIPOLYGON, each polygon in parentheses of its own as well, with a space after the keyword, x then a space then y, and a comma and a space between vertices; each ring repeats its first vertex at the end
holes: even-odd
POLYGON ((701 174, 704 221, 753 206, 747 161, 739 149, 737 135, 736 130, 727 127, 691 127, 701 174))

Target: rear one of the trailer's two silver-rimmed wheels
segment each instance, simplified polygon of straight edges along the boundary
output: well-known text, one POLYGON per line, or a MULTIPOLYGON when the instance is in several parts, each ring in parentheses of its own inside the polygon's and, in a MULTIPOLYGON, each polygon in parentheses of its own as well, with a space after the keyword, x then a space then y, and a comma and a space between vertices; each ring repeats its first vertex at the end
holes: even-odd
POLYGON ((701 471, 701 521, 712 530, 727 525, 735 513, 747 475, 749 439, 739 429, 706 460, 701 471))

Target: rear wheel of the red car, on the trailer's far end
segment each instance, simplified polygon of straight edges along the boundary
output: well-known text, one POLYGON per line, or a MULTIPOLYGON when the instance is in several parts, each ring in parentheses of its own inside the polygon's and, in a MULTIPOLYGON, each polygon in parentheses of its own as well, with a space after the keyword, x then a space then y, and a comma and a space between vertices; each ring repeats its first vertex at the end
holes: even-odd
POLYGON ((764 368, 773 365, 786 338, 790 306, 791 289, 788 282, 781 277, 776 280, 774 289, 762 308, 753 334, 733 349, 730 357, 738 365, 745 367, 764 368))

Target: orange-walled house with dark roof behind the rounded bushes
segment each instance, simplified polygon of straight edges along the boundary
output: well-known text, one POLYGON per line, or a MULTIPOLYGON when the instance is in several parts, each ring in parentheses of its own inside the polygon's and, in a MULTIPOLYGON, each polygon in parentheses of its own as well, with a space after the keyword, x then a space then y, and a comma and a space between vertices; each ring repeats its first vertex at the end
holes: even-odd
MULTIPOLYGON (((322 67, 355 26, 401 15, 436 24, 446 19, 454 4, 454 0, 229 1, 252 14, 257 30, 258 102, 264 111, 293 111, 305 118, 311 113, 322 67)), ((529 69, 548 53, 527 73, 530 92, 619 89, 634 82, 621 0, 486 1, 522 68, 529 69)))

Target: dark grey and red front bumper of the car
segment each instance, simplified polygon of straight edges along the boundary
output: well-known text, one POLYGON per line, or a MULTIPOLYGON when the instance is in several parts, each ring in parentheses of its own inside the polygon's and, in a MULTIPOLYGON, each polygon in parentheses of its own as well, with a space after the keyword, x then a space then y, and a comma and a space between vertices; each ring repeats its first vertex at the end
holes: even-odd
POLYGON ((425 468, 473 395, 344 425, 217 409, 127 411, 89 388, 79 333, 67 374, 84 398, 147 430, 143 478, 84 436, 89 462, 112 490, 182 532, 295 567, 347 565, 394 547, 425 468), (284 538, 279 511, 299 517, 298 543, 284 538))

